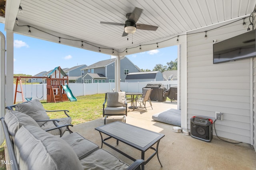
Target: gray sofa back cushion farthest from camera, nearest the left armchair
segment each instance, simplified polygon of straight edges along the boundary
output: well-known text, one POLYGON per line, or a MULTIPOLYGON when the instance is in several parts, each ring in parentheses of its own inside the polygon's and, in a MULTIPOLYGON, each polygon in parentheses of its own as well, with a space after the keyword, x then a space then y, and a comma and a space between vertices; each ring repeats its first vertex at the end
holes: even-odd
POLYGON ((20 127, 22 127, 22 125, 32 125, 39 127, 36 121, 30 116, 15 110, 6 110, 4 121, 8 127, 12 142, 14 141, 16 132, 18 129, 20 129, 20 127))

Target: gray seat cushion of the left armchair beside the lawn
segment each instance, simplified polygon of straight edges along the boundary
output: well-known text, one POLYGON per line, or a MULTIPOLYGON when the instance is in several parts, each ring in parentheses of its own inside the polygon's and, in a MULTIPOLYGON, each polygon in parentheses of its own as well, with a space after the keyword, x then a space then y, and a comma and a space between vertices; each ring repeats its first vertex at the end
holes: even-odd
MULTIPOLYGON (((63 117, 63 118, 59 118, 58 119, 60 122, 57 122, 57 124, 59 126, 61 125, 66 125, 66 124, 71 124, 71 117, 63 117)), ((46 129, 50 129, 53 127, 56 127, 52 121, 47 121, 46 123, 44 123, 42 126, 40 126, 42 129, 46 130, 46 129)), ((61 133, 63 133, 64 131, 66 131, 66 127, 62 127, 60 128, 61 133)), ((52 131, 48 131, 48 133, 52 134, 52 135, 60 135, 60 130, 59 129, 54 129, 52 131)))

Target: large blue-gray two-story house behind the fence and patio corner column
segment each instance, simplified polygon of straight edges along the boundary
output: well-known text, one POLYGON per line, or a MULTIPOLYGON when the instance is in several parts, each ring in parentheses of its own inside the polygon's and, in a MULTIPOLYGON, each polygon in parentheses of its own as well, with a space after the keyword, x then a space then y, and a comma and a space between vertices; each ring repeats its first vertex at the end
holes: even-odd
MULTIPOLYGON (((84 70, 84 83, 115 82, 115 59, 99 61, 84 70)), ((120 60, 120 82, 125 82, 126 75, 139 72, 140 68, 134 65, 127 57, 120 60)))

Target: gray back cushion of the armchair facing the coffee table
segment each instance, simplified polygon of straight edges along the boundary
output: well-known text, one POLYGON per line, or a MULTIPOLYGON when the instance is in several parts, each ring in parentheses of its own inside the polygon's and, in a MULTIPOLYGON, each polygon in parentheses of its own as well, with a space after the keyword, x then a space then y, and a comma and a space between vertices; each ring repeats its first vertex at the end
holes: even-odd
POLYGON ((125 92, 107 93, 107 106, 125 106, 125 92))

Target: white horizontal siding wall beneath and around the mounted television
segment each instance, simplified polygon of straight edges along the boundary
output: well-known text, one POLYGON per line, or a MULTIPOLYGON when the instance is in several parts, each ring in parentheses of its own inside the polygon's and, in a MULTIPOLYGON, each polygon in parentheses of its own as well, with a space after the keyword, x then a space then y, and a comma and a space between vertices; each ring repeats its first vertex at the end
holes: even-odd
POLYGON ((187 121, 190 129, 192 116, 215 119, 215 111, 223 112, 223 121, 215 123, 217 135, 250 143, 250 59, 213 64, 212 49, 213 39, 246 32, 242 22, 208 31, 207 39, 204 32, 187 36, 187 121))

